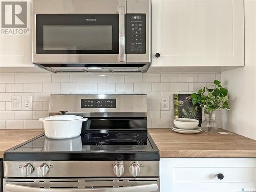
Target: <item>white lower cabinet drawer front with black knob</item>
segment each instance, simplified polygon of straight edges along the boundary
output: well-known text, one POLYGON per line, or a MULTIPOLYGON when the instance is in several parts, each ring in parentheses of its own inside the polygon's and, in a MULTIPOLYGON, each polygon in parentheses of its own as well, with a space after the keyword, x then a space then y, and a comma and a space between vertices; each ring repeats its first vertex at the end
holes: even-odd
POLYGON ((160 185, 161 192, 256 191, 256 158, 160 158, 160 185))

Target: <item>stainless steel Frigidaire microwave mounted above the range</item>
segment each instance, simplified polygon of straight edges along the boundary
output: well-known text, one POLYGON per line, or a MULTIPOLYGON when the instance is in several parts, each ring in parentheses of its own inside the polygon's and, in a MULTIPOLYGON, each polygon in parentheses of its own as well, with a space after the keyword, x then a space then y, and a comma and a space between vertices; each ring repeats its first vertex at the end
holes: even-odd
POLYGON ((52 72, 146 72, 151 0, 33 0, 32 62, 52 72))

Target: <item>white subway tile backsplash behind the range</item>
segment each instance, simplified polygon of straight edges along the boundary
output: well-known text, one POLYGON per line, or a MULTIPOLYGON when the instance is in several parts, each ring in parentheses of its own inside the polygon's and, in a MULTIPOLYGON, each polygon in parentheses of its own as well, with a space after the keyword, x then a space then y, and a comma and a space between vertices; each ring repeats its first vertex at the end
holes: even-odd
MULTIPOLYGON (((0 74, 0 129, 41 129, 38 119, 49 116, 50 94, 146 94, 147 126, 168 128, 174 118, 173 94, 198 91, 213 79, 220 74, 0 74), (31 95, 33 111, 11 111, 11 95, 31 95), (169 97, 169 111, 160 110, 160 96, 169 97)), ((220 117, 217 112, 218 121, 220 117)))

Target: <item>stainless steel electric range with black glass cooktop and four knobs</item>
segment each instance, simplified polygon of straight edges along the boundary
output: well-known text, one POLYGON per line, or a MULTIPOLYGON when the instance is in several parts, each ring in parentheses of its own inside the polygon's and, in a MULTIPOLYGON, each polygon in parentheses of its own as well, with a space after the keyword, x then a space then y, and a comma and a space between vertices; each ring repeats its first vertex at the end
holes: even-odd
POLYGON ((43 134, 8 150, 5 192, 160 191, 146 95, 51 95, 49 115, 63 110, 88 117, 81 135, 43 134))

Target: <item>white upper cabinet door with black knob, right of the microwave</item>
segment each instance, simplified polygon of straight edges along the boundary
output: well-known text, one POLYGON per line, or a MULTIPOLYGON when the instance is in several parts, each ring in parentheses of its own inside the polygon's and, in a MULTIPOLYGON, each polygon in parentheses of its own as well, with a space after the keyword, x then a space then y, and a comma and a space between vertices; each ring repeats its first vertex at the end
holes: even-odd
POLYGON ((243 0, 152 0, 152 54, 153 67, 244 66, 243 0))

